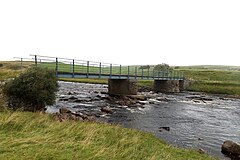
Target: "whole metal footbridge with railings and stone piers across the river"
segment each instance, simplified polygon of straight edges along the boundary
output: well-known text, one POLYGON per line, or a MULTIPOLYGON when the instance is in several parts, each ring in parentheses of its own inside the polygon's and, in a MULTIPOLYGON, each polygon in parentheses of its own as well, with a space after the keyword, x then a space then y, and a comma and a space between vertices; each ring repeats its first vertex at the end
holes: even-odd
POLYGON ((137 94, 138 80, 154 80, 156 92, 179 92, 185 88, 185 78, 173 69, 159 70, 155 66, 124 66, 77 59, 30 55, 31 58, 18 58, 33 61, 37 67, 55 71, 59 78, 103 78, 108 79, 108 92, 113 95, 137 94))

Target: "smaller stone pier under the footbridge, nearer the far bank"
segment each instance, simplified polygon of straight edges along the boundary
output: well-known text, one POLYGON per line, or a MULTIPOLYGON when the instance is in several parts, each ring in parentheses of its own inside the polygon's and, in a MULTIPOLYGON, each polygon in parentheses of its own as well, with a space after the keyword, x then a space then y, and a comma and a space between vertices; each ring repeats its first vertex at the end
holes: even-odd
POLYGON ((180 92, 179 80, 154 80, 153 89, 162 93, 180 92))

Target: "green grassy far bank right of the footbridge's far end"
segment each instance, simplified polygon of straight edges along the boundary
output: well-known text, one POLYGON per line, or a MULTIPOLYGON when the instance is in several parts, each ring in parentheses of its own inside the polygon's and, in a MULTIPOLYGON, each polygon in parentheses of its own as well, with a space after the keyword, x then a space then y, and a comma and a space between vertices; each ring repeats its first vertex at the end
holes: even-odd
MULTIPOLYGON (((228 68, 228 67, 227 67, 228 68)), ((223 69, 179 69, 195 81, 188 90, 214 94, 240 95, 240 71, 223 69)))

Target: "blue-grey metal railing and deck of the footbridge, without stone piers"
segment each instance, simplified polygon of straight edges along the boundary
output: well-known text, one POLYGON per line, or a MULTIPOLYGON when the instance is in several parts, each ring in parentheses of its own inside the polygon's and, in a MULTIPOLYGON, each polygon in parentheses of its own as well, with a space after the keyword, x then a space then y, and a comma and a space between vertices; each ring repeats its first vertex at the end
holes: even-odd
MULTIPOLYGON (((85 61, 41 55, 30 55, 37 67, 55 70, 57 77, 72 78, 113 78, 113 79, 159 79, 182 80, 183 73, 175 70, 154 70, 154 66, 123 66, 120 64, 85 61)), ((21 62, 27 58, 19 58, 21 62)))

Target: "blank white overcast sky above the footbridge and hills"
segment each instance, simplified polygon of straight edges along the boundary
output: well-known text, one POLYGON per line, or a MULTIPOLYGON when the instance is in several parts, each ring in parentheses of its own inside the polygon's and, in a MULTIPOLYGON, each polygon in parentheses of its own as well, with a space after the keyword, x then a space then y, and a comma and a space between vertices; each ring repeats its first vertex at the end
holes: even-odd
POLYGON ((240 66, 240 0, 0 0, 0 60, 240 66))

